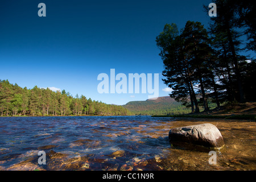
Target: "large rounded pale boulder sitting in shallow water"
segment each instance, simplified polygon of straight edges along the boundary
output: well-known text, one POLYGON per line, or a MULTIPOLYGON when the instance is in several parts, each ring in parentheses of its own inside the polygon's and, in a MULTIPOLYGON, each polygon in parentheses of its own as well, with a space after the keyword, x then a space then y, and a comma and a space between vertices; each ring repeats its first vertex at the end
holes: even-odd
POLYGON ((225 144, 220 131, 210 123, 171 129, 169 139, 171 142, 187 142, 209 148, 221 148, 225 144))

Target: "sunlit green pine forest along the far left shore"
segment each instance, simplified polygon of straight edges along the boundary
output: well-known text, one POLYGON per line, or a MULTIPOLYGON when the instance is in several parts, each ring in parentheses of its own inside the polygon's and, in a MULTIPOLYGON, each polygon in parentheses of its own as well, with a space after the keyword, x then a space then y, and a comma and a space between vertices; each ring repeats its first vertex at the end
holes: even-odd
POLYGON ((92 101, 85 96, 72 97, 71 94, 53 92, 49 88, 21 88, 0 80, 0 114, 31 116, 65 116, 65 115, 130 115, 122 106, 108 105, 92 101))

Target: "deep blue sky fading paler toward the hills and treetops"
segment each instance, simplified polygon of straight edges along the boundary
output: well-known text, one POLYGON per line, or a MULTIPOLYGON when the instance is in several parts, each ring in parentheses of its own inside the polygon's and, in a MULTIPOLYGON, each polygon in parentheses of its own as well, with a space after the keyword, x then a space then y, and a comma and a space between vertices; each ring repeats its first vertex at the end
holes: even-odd
POLYGON ((188 20, 207 26, 205 0, 59 1, 0 3, 0 79, 24 88, 54 87, 106 104, 147 100, 146 94, 100 94, 100 73, 159 73, 159 96, 168 96, 155 38, 164 24, 188 20), (46 17, 38 4, 46 4, 46 17))

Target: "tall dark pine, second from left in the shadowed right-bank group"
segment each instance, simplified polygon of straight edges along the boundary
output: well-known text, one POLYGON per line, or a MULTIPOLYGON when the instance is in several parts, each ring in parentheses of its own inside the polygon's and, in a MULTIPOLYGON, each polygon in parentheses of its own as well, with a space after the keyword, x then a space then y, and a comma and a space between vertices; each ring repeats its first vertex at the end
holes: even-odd
POLYGON ((213 50, 210 48, 207 30, 200 22, 188 21, 181 37, 185 40, 184 47, 190 57, 188 61, 193 71, 194 80, 199 82, 204 110, 209 111, 204 80, 207 80, 209 76, 208 62, 213 50))

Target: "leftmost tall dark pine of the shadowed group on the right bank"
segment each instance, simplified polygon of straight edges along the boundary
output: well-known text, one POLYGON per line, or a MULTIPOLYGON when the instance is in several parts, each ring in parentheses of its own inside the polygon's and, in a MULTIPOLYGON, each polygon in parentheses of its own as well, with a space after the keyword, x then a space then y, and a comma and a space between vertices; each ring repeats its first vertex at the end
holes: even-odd
POLYGON ((187 104, 190 97, 192 113, 199 112, 195 92, 192 86, 190 67, 187 62, 187 53, 184 51, 184 39, 179 35, 176 24, 166 24, 163 32, 156 37, 156 45, 160 48, 160 56, 164 63, 164 84, 174 89, 170 95, 176 101, 187 104), (194 110, 194 104, 196 110, 194 110))

